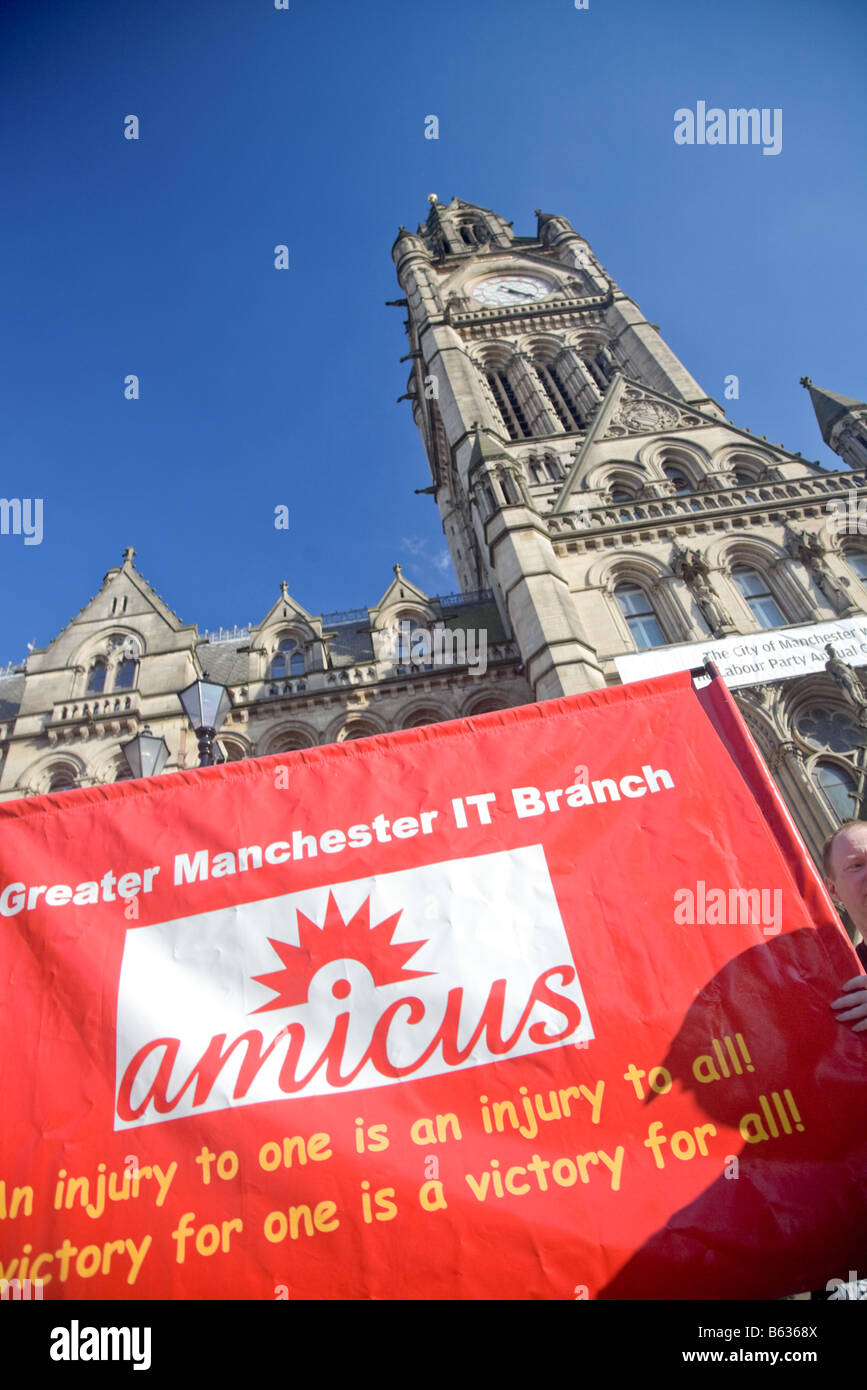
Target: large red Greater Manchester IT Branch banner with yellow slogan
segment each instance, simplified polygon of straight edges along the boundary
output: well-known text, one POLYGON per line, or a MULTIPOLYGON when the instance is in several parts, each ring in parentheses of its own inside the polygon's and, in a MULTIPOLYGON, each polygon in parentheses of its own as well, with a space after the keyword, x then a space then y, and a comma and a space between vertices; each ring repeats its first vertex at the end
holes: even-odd
POLYGON ((0 1279, 773 1298, 860 1269, 857 958, 681 673, 0 806, 0 1279))

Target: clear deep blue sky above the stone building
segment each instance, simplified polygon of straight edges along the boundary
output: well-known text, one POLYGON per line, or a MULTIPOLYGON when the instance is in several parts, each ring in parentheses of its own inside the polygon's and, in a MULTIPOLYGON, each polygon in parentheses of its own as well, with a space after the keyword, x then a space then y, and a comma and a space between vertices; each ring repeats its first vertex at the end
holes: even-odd
POLYGON ((125 545, 201 628, 396 560, 457 588, 383 307, 431 192, 567 215, 735 423, 832 467, 798 379, 867 396, 866 58, 856 0, 7 0, 0 495, 44 535, 0 535, 0 663, 125 545), (677 146, 696 100, 782 108, 782 152, 677 146))

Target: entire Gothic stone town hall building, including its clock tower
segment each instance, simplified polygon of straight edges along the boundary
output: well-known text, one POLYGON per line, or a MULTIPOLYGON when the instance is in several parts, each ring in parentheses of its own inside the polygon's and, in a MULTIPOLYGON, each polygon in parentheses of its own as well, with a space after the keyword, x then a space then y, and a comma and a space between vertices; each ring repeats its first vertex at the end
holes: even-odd
MULTIPOLYGON (((803 379, 841 471, 732 424, 571 224, 536 218, 515 236, 432 197, 393 247, 406 399, 460 592, 431 598, 396 566, 372 606, 311 614, 282 585, 257 626, 201 634, 126 550, 0 673, 0 799, 129 776, 121 745, 144 724, 168 771, 196 766, 178 691, 203 671, 231 691, 236 759, 600 688, 628 652, 867 613, 867 520, 832 514, 864 489, 867 516, 867 407, 803 379), (460 644, 427 660, 410 631, 484 634, 484 670, 460 644)), ((838 671, 738 694, 814 853, 863 795, 859 691, 838 671)))

